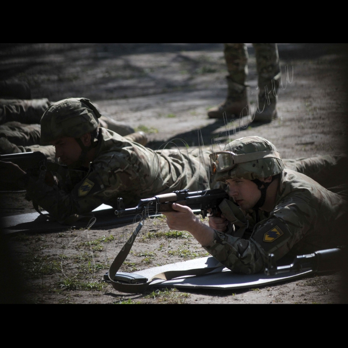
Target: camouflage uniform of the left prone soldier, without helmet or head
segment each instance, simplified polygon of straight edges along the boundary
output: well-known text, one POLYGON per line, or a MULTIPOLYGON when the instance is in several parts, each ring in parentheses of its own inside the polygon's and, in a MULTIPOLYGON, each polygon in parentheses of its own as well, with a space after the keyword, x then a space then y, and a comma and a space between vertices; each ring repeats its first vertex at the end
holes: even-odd
POLYGON ((155 152, 100 128, 96 156, 86 177, 67 177, 56 187, 32 177, 26 187, 27 196, 64 223, 73 215, 90 213, 102 203, 116 207, 117 198, 123 198, 130 207, 140 199, 174 190, 207 189, 208 155, 199 151, 155 152))

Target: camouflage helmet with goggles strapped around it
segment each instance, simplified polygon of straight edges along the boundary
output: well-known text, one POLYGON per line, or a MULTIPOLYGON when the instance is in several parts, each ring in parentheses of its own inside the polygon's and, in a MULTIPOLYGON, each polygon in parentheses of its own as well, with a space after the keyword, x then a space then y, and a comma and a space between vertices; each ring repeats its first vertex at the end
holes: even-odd
POLYGON ((210 155, 215 181, 256 180, 280 174, 284 164, 275 146, 261 137, 245 137, 210 155))

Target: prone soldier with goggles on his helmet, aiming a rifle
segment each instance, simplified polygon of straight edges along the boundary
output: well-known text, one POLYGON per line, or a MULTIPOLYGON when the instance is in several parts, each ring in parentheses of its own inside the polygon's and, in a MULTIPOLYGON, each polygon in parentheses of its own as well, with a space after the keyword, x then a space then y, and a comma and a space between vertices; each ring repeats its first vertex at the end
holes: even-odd
POLYGON ((226 150, 211 155, 215 181, 230 186, 222 217, 210 218, 208 227, 176 204, 176 212, 165 213, 171 229, 190 232, 215 259, 243 274, 264 270, 269 254, 280 260, 341 245, 336 226, 346 218, 347 185, 334 193, 305 174, 335 175, 347 157, 286 161, 302 174, 285 169, 276 148, 260 137, 233 141, 226 150))

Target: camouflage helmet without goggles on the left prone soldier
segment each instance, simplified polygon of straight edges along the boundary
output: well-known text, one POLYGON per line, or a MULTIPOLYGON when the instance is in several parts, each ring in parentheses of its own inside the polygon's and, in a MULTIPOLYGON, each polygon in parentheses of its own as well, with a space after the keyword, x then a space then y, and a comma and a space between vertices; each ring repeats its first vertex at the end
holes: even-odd
POLYGON ((98 127, 99 111, 86 98, 67 98, 48 107, 41 118, 41 144, 73 137, 81 138, 98 127))

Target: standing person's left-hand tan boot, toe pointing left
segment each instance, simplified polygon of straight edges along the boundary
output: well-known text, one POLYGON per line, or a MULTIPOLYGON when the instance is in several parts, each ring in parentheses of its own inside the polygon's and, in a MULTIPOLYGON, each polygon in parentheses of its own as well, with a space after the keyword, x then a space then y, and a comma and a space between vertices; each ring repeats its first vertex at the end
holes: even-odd
POLYGON ((209 118, 223 118, 226 116, 239 118, 240 115, 249 115, 249 95, 248 88, 243 85, 236 84, 227 77, 228 96, 227 100, 208 110, 209 118))

